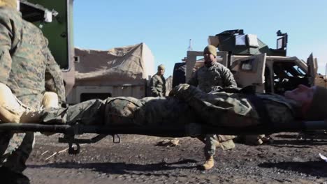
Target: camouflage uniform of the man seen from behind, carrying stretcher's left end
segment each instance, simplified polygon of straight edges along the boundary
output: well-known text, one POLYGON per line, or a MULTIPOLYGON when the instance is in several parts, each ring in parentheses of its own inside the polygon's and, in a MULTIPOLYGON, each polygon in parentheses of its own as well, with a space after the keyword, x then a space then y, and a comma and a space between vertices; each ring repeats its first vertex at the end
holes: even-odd
MULTIPOLYGON (((40 107, 45 90, 65 101, 61 70, 48 49, 48 40, 13 8, 0 8, 0 82, 29 107, 40 107)), ((33 132, 1 133, 0 137, 0 165, 21 173, 33 147, 33 132)))

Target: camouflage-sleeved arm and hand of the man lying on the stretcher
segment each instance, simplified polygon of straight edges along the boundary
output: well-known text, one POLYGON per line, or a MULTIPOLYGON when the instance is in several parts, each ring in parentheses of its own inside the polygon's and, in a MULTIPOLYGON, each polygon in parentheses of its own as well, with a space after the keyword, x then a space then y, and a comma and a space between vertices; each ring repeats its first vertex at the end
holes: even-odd
POLYGON ((194 109, 196 114, 202 118, 201 123, 244 127, 252 122, 251 116, 247 116, 252 107, 245 107, 244 105, 238 107, 240 100, 236 95, 228 93, 212 95, 188 84, 175 86, 173 90, 175 90, 175 98, 187 102, 189 107, 194 109), (235 112, 235 109, 242 109, 245 113, 235 112))

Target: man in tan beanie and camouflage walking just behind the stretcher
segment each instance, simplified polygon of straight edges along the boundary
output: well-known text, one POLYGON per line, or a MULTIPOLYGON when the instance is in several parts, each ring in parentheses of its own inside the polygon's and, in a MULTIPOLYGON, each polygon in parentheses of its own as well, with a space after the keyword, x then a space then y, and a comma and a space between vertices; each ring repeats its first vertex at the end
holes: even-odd
MULTIPOLYGON (((205 47, 203 56, 205 60, 204 66, 194 73, 188 84, 198 86, 205 93, 237 86, 231 71, 217 62, 217 48, 215 46, 208 45, 205 47)), ((205 164, 202 165, 203 169, 211 169, 214 166, 213 155, 215 155, 217 146, 221 146, 223 150, 235 147, 233 138, 235 138, 233 135, 206 135, 205 137, 199 137, 205 143, 205 164)))

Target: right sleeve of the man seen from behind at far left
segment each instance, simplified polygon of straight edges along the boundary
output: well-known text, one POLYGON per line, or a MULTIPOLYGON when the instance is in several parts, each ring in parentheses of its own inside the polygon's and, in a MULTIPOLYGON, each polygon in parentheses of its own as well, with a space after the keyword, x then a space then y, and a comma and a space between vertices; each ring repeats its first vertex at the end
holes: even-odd
POLYGON ((64 103, 66 102, 64 79, 57 62, 54 60, 48 48, 48 40, 46 38, 44 38, 44 42, 45 44, 42 52, 47 58, 45 68, 45 91, 57 93, 59 102, 64 103))

